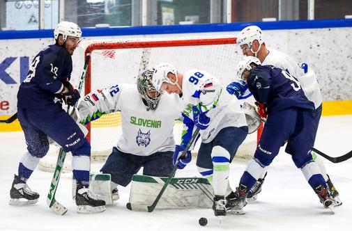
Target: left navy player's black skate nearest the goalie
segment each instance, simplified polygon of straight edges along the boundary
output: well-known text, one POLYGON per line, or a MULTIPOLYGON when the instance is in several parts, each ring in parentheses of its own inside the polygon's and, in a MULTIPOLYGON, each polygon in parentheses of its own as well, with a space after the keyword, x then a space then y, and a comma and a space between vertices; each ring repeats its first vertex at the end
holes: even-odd
POLYGON ((77 181, 76 188, 76 205, 79 213, 103 212, 106 209, 105 201, 92 195, 89 189, 79 181, 77 181))

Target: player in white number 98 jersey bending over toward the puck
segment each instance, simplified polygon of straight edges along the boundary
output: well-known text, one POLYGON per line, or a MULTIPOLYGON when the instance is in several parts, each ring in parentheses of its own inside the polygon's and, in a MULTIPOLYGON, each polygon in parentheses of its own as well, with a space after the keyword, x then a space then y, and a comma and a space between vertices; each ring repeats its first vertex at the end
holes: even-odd
POLYGON ((238 146, 247 136, 245 114, 238 99, 232 97, 217 79, 202 70, 178 72, 169 63, 155 67, 153 85, 160 92, 180 95, 183 100, 184 131, 181 145, 176 145, 174 165, 182 169, 191 161, 188 151, 185 158, 179 155, 190 142, 194 128, 199 127, 202 143, 197 155, 199 173, 211 182, 214 189, 215 216, 225 216, 229 187, 229 165, 238 146))

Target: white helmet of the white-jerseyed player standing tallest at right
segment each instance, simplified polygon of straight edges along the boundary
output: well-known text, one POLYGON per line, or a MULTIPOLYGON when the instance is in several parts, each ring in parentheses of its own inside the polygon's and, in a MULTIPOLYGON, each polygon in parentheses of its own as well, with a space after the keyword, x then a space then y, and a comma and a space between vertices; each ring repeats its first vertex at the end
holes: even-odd
POLYGON ((247 26, 238 34, 237 44, 248 45, 248 47, 252 49, 254 40, 258 40, 259 45, 261 45, 264 42, 261 35, 263 35, 263 33, 261 32, 261 29, 258 26, 247 26))

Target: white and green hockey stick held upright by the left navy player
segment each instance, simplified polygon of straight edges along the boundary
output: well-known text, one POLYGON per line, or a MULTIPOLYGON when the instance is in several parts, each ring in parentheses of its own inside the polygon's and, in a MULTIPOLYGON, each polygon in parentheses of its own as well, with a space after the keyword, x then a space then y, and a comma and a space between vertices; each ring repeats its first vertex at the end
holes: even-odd
MULTIPOLYGON (((77 89, 79 93, 81 93, 82 91, 84 77, 86 76, 86 70, 88 68, 88 63, 90 58, 91 58, 91 55, 87 54, 86 61, 84 62, 82 76, 81 76, 81 79, 79 79, 79 85, 77 89)), ((76 106, 77 106, 77 103, 76 103, 76 106)), ((70 111, 70 106, 68 106, 68 109, 67 109, 67 112, 69 111, 70 111)), ((59 157, 57 157, 56 167, 54 170, 54 175, 52 177, 52 183, 50 184, 49 193, 47 194, 47 206, 49 206, 49 208, 52 209, 54 213, 59 215, 66 214, 67 212, 66 207, 64 207, 63 205, 61 205, 59 202, 55 200, 55 193, 56 193, 57 186, 59 184, 65 157, 66 157, 65 150, 63 150, 63 148, 60 148, 59 157)))

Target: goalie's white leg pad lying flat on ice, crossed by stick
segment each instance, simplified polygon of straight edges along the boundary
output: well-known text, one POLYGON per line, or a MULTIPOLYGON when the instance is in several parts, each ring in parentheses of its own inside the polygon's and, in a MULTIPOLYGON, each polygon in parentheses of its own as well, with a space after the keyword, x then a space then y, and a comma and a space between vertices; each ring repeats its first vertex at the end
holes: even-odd
MULTIPOLYGON (((153 204, 166 181, 167 177, 134 175, 130 191, 130 204, 135 206, 153 204)), ((213 206, 213 187, 204 178, 172 178, 158 205, 211 208, 213 206)))

